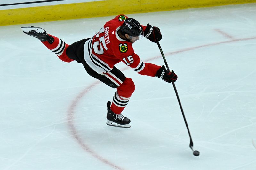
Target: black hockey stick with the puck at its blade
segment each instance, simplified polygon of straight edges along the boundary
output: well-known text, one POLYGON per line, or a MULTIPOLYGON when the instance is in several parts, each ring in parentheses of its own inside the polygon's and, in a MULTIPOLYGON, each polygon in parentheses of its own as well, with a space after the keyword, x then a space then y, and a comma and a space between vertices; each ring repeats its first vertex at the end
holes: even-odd
MULTIPOLYGON (((164 59, 164 63, 165 63, 165 65, 166 65, 167 70, 168 70, 168 71, 171 71, 171 70, 169 69, 169 66, 168 66, 168 64, 167 64, 167 62, 166 62, 166 59, 165 59, 165 57, 164 57, 164 53, 163 53, 163 50, 162 50, 162 48, 161 48, 161 46, 160 46, 160 44, 159 44, 159 41, 157 41, 157 45, 158 45, 158 48, 159 48, 159 50, 160 50, 160 52, 161 52, 161 54, 162 54, 162 57, 163 57, 163 59, 164 59)), ((190 131, 189 131, 189 129, 188 129, 188 123, 187 123, 187 120, 186 120, 186 118, 185 118, 185 114, 184 114, 184 111, 183 111, 182 106, 181 106, 180 98, 179 98, 179 95, 178 95, 176 86, 175 86, 175 84, 174 84, 173 81, 172 81, 172 85, 173 85, 174 91, 175 91, 175 93, 176 93, 176 96, 177 96, 177 99, 178 99, 178 102, 179 102, 179 105, 180 105, 180 110, 181 110, 181 113, 182 113, 182 115, 183 115, 183 118, 184 118, 184 121, 185 121, 187 130, 188 130, 188 135, 189 135, 189 138, 190 138, 189 147, 192 149, 193 154, 194 154, 195 156, 198 156, 198 155, 199 155, 199 152, 198 152, 198 151, 194 151, 194 149, 193 149, 193 141, 192 141, 192 138, 191 138, 191 135, 190 135, 190 131)))

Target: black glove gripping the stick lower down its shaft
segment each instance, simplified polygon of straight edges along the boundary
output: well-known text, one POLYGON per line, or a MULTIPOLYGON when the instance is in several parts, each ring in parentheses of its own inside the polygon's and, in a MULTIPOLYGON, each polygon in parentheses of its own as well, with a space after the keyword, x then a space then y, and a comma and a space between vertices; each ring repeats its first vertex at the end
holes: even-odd
POLYGON ((162 80, 172 83, 172 81, 176 81, 178 76, 174 73, 174 71, 168 71, 165 69, 164 65, 156 72, 156 75, 158 78, 161 78, 162 80))

